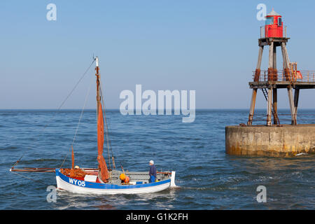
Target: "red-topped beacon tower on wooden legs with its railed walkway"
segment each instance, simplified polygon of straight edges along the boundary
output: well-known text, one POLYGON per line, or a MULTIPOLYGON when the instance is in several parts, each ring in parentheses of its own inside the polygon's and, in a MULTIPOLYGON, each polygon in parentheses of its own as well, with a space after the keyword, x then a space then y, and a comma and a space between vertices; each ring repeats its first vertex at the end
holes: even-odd
POLYGON ((253 89, 251 106, 249 110, 247 125, 252 125, 255 111, 255 100, 258 89, 267 100, 267 126, 280 125, 277 112, 277 90, 287 89, 290 104, 291 125, 297 125, 297 104, 301 89, 315 88, 315 71, 298 71, 297 62, 290 62, 286 44, 290 38, 286 35, 286 27, 283 26, 282 17, 273 9, 266 16, 265 26, 260 27, 260 38, 258 39, 259 53, 258 62, 253 74, 253 81, 248 83, 253 89), (268 69, 260 70, 262 52, 265 46, 269 46, 268 69), (283 69, 277 71, 276 48, 281 48, 283 69), (294 96, 293 96, 294 90, 294 96))

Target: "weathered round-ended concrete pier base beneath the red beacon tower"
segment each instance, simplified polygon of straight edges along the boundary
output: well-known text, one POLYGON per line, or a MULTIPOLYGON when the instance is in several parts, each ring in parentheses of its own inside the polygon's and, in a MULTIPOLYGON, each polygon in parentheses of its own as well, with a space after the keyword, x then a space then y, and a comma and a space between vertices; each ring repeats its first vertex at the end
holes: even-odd
POLYGON ((225 153, 273 157, 315 153, 315 125, 227 126, 225 153))

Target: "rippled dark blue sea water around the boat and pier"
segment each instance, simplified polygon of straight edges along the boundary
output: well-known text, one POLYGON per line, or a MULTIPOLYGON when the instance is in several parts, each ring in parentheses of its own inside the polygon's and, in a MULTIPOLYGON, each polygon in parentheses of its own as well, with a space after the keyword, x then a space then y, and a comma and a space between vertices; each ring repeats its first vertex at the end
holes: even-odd
MULTIPOLYGON (((299 113, 298 123, 314 123, 314 110, 299 113)), ((255 116, 265 119, 265 110, 255 116)), ((315 209, 314 155, 225 154, 225 126, 246 123, 248 110, 197 110, 194 123, 182 123, 182 117, 174 115, 123 116, 118 110, 107 111, 106 117, 117 169, 123 165, 125 170, 145 172, 154 160, 158 171, 176 171, 179 188, 142 195, 57 190, 55 202, 48 202, 47 189, 56 186, 55 173, 9 169, 22 155, 16 168, 56 168, 65 157, 62 167, 71 167, 70 148, 80 111, 2 110, 0 209, 315 209), (258 202, 258 186, 265 186, 266 202, 258 202)), ((79 167, 97 167, 96 119, 94 110, 83 113, 73 144, 79 167)), ((283 123, 290 123, 290 116, 283 116, 283 123)), ((109 161, 107 148, 104 158, 109 161)))

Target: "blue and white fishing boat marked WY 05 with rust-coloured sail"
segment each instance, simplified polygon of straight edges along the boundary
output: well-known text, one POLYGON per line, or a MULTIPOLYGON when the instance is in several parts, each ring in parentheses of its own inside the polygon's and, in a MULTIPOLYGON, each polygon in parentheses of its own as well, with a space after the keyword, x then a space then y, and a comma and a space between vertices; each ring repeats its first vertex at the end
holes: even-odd
MULTIPOLYGON (((103 110, 104 99, 99 73, 99 58, 94 58, 97 87, 97 162, 98 167, 80 168, 74 165, 73 145, 71 145, 71 168, 15 168, 20 161, 10 169, 10 172, 55 172, 57 189, 71 193, 82 194, 139 194, 156 193, 167 188, 176 187, 176 172, 157 172, 156 181, 151 183, 148 172, 129 172, 116 169, 115 159, 112 155, 108 167, 104 159, 104 135, 109 147, 108 125, 106 113, 103 110), (105 126, 105 128, 104 128, 105 126), (105 132, 104 132, 105 130, 105 132)), ((110 160, 110 159, 109 159, 110 160)))

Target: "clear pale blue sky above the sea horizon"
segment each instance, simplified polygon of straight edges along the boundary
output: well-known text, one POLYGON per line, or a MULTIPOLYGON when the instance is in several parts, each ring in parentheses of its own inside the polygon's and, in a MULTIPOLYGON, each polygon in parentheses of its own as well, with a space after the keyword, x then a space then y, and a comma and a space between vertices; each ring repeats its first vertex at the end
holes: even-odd
MULTIPOLYGON (((197 109, 248 109, 264 24, 258 3, 283 16, 290 60, 315 70, 315 1, 0 1, 0 109, 57 109, 93 53, 108 109, 119 109, 120 92, 136 84, 196 90, 197 109), (48 3, 57 21, 46 20, 48 3)), ((93 69, 64 109, 82 108, 91 80, 93 69)), ((95 105, 92 87, 87 108, 95 105)), ((300 106, 314 108, 314 97, 302 90, 300 106)), ((260 93, 257 106, 265 105, 260 93)), ((288 108, 286 90, 279 107, 288 108)))

